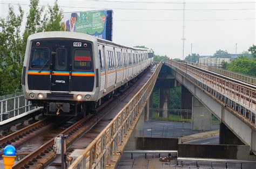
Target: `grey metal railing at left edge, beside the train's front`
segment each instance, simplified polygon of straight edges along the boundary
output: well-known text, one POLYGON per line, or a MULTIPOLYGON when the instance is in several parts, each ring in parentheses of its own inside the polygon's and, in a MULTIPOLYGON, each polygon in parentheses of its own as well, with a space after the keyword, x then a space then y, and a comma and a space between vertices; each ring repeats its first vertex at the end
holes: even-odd
POLYGON ((1 96, 0 104, 0 122, 35 109, 35 107, 32 107, 31 102, 24 98, 22 92, 1 96))

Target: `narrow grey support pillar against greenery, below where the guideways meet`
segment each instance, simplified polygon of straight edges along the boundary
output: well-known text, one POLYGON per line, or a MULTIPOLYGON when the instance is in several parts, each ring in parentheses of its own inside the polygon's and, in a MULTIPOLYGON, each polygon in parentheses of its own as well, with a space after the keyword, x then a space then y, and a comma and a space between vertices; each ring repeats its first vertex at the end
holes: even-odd
POLYGON ((159 89, 159 117, 168 118, 169 115, 169 88, 159 89))

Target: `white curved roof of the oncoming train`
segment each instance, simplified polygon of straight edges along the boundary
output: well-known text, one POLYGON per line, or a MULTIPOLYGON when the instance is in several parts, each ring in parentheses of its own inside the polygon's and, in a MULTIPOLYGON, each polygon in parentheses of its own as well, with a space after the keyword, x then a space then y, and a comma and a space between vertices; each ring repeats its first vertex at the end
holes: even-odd
POLYGON ((98 42, 100 44, 112 45, 112 46, 127 48, 130 50, 150 51, 149 49, 146 49, 146 48, 136 48, 136 47, 128 47, 128 46, 124 46, 124 45, 119 45, 119 44, 113 43, 112 41, 99 39, 99 38, 93 37, 93 36, 91 36, 89 34, 85 34, 85 33, 67 32, 67 31, 51 31, 51 32, 39 32, 39 33, 31 34, 28 38, 28 41, 31 41, 33 39, 44 39, 44 38, 84 39, 84 40, 89 40, 89 41, 92 41, 95 43, 98 42))

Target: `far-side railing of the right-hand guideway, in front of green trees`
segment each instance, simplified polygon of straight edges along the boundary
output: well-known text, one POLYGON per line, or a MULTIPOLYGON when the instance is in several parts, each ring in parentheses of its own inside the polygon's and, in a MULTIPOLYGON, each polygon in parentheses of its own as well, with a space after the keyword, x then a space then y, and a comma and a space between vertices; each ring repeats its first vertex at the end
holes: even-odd
MULTIPOLYGON (((185 62, 185 61, 183 61, 183 62, 185 62)), ((248 76, 248 75, 240 74, 240 73, 235 73, 235 72, 231 72, 231 71, 226 71, 224 69, 217 68, 217 67, 195 64, 193 62, 186 62, 186 63, 189 64, 189 65, 193 65, 193 66, 196 66, 196 67, 203 68, 207 71, 211 71, 211 72, 214 72, 214 73, 218 73, 220 75, 230 77, 230 78, 235 79, 235 80, 239 80, 239 81, 247 83, 249 85, 256 86, 256 78, 254 78, 252 76, 248 76)))

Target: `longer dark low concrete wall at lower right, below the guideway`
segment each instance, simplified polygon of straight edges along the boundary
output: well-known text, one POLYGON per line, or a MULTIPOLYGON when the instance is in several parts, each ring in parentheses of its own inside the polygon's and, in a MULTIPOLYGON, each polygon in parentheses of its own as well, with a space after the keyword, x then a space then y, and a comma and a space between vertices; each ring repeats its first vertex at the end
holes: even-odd
POLYGON ((179 144, 178 157, 250 159, 250 146, 179 144))

